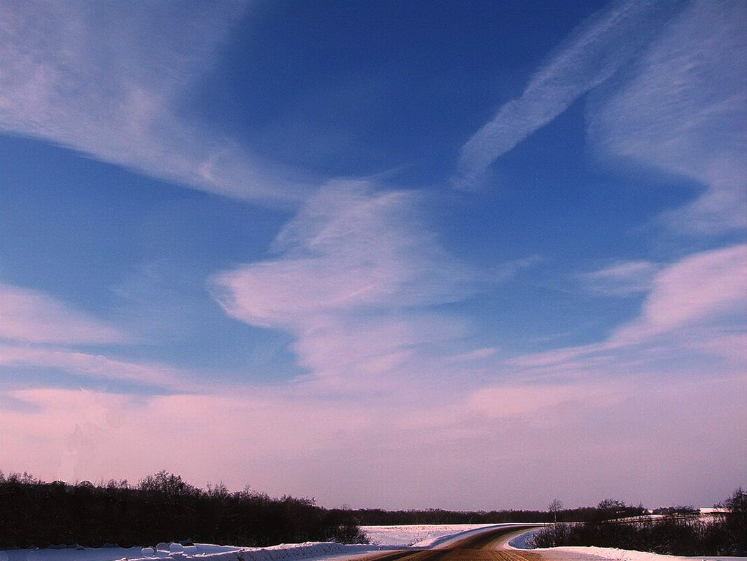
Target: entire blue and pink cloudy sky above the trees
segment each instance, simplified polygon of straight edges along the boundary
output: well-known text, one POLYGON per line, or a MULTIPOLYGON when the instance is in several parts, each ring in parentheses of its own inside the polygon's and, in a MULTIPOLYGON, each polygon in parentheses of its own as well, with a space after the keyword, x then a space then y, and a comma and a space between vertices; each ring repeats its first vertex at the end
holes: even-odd
POLYGON ((747 3, 0 0, 0 469, 747 487, 747 3))

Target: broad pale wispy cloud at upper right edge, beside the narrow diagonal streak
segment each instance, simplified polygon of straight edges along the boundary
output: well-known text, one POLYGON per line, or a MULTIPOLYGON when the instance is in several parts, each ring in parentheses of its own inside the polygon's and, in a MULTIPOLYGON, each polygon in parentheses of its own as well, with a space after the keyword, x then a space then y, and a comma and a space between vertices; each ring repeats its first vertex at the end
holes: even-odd
POLYGON ((691 2, 590 106, 589 135, 602 149, 707 187, 666 215, 677 229, 747 224, 746 51, 747 4, 691 2))

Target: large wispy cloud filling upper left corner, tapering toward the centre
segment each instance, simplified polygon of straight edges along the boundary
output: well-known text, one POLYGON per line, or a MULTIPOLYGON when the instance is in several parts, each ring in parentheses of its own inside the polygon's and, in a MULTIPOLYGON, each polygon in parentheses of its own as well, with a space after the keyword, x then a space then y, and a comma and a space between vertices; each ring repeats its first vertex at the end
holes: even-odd
POLYGON ((187 187, 294 205, 306 189, 297 178, 176 114, 247 5, 4 1, 0 127, 187 187))

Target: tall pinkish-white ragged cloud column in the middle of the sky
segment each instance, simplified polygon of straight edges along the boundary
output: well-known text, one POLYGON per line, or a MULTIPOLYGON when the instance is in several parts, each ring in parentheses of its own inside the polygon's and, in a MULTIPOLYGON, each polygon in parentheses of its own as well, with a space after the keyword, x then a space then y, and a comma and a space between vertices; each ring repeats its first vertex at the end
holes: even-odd
POLYGON ((474 271, 419 223, 416 199, 332 182, 279 234, 277 258, 215 276, 214 297, 232 317, 290 330, 316 376, 385 377, 419 347, 463 337, 462 320, 427 308, 475 290, 474 271))

